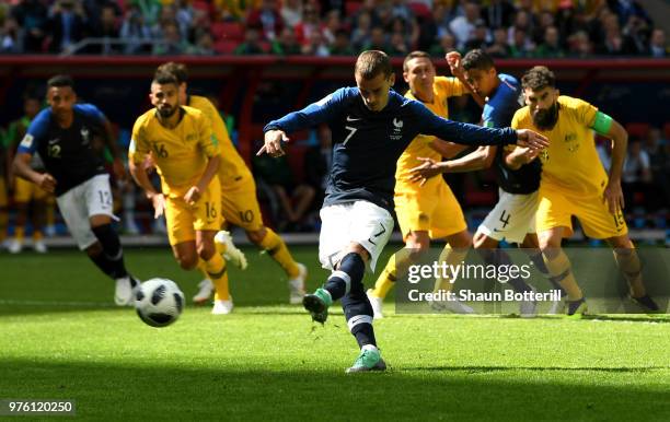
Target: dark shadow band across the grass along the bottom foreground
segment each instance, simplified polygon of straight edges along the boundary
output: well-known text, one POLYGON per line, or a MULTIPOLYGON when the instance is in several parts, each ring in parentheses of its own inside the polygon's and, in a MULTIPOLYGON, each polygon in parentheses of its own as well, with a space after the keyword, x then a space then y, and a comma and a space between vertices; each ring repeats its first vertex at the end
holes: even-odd
MULTIPOLYGON (((668 386, 631 383, 626 368, 436 367, 339 371, 122 366, 5 360, 3 397, 73 399, 83 419, 139 420, 668 420, 668 386), (503 374, 501 371, 522 370, 503 374), (420 371, 420 372, 413 372, 420 371), (477 372, 494 372, 478 376, 477 372), (547 371, 612 372, 550 377, 547 371), (442 372, 448 372, 443 375, 442 372), (540 376, 529 377, 527 372, 540 376), (624 374, 620 374, 624 372, 624 374), (473 374, 475 373, 475 374, 473 374), (622 376, 625 379, 615 379, 622 376), (625 387, 625 389, 622 389, 625 387)), ((305 365, 303 363, 303 365, 305 365)), ((256 365, 259 366, 259 365, 256 365)), ((629 368, 638 372, 638 368, 629 368)), ((639 374, 639 376, 649 376, 639 374)))

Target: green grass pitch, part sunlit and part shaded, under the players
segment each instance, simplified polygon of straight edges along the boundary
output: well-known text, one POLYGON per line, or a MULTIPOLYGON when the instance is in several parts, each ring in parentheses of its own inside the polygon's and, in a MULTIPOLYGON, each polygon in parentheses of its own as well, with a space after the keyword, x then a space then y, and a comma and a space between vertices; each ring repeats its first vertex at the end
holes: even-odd
MULTIPOLYGON (((321 284, 316 247, 292 249, 321 284)), ((345 375, 342 312, 313 325, 285 305, 278 267, 245 251, 232 315, 188 306, 163 329, 113 306, 83 254, 1 255, 0 399, 73 399, 84 420, 670 420, 668 318, 391 315, 376 323, 390 371, 345 375)), ((126 256, 195 293, 170 250, 126 256)))

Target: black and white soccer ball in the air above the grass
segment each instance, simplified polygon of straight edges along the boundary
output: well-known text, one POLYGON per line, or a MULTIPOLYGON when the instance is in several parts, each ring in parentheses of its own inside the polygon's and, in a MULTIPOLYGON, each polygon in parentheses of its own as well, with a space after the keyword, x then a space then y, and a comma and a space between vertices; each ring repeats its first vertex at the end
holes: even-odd
POLYGON ((147 280, 136 293, 135 309, 151 327, 166 327, 180 318, 184 309, 184 293, 172 280, 147 280))

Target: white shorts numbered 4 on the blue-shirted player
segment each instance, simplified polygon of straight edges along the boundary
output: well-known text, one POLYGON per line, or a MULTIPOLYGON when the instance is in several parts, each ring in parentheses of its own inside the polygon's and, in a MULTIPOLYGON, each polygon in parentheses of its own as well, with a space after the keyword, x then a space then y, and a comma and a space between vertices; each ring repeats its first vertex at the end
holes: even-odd
POLYGON ((528 233, 535 233, 538 192, 520 195, 499 189, 499 196, 498 203, 477 227, 477 233, 498 242, 520 244, 528 233))

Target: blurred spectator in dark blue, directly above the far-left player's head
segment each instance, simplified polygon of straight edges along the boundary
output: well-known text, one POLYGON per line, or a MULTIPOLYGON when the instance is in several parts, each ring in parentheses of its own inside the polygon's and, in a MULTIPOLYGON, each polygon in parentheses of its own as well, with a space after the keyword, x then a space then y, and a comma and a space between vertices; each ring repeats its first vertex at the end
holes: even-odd
POLYGON ((51 8, 46 28, 49 35, 49 51, 69 51, 88 31, 86 16, 78 0, 59 0, 51 8))

